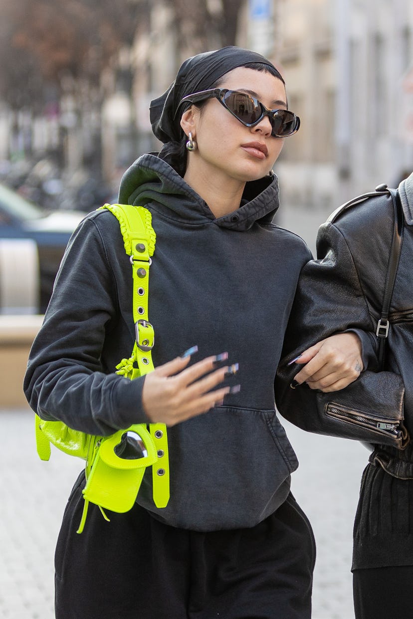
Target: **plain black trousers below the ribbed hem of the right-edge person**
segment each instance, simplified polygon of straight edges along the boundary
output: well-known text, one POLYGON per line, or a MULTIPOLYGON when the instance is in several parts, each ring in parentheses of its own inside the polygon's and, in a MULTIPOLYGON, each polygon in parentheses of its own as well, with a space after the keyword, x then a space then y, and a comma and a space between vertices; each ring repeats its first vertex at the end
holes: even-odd
POLYGON ((413 617, 413 566, 355 569, 355 619, 413 617))

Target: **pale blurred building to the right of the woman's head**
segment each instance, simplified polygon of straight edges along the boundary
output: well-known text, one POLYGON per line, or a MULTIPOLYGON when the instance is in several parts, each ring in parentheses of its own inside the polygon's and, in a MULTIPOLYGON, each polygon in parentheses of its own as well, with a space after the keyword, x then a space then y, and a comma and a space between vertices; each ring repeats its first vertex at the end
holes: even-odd
POLYGON ((302 118, 277 165, 284 200, 331 211, 413 170, 413 4, 274 2, 274 61, 302 118))

